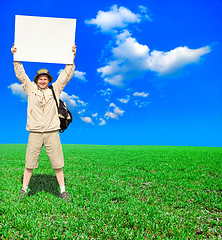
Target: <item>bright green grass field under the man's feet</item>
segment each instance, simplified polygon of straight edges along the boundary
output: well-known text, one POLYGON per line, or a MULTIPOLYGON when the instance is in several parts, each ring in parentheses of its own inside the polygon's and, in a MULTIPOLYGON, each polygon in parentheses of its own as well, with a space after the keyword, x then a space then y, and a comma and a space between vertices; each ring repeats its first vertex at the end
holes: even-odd
POLYGON ((63 145, 60 200, 42 151, 29 197, 26 145, 0 145, 0 239, 220 239, 222 148, 63 145))

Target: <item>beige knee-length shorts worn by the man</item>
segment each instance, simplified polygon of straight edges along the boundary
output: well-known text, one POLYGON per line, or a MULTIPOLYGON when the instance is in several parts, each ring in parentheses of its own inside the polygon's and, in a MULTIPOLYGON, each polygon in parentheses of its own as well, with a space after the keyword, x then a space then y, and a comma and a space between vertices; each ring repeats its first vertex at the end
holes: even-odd
POLYGON ((64 158, 58 131, 46 133, 29 133, 29 141, 25 157, 25 167, 30 169, 38 167, 39 155, 41 153, 43 145, 45 145, 45 150, 51 161, 52 168, 62 168, 64 166, 64 158))

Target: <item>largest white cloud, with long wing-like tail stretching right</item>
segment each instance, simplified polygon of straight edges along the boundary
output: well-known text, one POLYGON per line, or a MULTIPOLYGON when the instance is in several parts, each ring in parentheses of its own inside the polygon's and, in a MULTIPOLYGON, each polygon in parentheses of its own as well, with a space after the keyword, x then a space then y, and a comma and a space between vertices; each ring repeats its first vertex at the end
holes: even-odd
POLYGON ((198 63, 203 55, 211 51, 209 46, 199 49, 185 46, 169 52, 150 52, 148 46, 138 43, 127 31, 118 36, 116 47, 111 49, 111 60, 97 69, 105 82, 116 86, 124 86, 124 81, 135 76, 138 78, 146 71, 156 72, 159 76, 175 73, 188 64, 198 63))

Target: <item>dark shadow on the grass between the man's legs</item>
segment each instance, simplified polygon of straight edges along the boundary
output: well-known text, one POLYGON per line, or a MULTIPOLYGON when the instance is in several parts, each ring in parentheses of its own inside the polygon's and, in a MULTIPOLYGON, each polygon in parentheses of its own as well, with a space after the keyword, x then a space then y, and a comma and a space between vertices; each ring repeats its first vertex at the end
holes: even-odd
POLYGON ((56 176, 47 174, 33 174, 29 183, 29 196, 41 191, 59 196, 58 187, 59 184, 57 182, 56 176))

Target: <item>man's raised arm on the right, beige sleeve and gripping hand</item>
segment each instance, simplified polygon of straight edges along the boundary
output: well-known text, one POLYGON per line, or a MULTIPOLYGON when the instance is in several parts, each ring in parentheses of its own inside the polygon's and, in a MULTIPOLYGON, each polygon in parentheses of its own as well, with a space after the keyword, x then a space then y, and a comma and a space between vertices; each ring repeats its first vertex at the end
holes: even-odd
POLYGON ((59 94, 61 94, 62 90, 66 86, 66 84, 69 82, 69 80, 73 77, 74 71, 75 71, 75 56, 76 56, 76 45, 72 47, 73 52, 73 64, 66 64, 65 69, 60 73, 58 79, 55 83, 53 83, 53 86, 57 89, 59 94))

